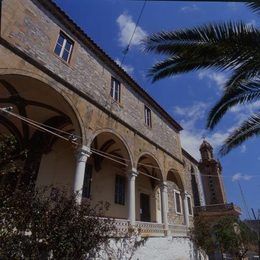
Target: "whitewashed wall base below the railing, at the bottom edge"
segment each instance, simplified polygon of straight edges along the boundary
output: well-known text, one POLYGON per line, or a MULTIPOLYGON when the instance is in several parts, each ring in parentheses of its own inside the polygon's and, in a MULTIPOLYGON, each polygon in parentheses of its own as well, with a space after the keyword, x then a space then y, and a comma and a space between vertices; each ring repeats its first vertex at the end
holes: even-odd
POLYGON ((140 247, 134 260, 207 260, 202 253, 197 252, 192 242, 184 237, 149 238, 140 247))

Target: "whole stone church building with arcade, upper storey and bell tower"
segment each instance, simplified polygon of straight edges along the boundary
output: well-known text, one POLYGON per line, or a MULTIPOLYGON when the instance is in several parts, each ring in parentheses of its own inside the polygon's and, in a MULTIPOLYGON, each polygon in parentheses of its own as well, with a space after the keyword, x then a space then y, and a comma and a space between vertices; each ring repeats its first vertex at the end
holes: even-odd
POLYGON ((151 248, 163 241, 166 255, 193 259, 194 212, 226 204, 221 179, 206 178, 206 164, 221 174, 211 148, 200 163, 185 151, 178 122, 51 0, 0 3, 0 133, 29 148, 35 184, 107 201, 119 230, 138 227, 151 248))

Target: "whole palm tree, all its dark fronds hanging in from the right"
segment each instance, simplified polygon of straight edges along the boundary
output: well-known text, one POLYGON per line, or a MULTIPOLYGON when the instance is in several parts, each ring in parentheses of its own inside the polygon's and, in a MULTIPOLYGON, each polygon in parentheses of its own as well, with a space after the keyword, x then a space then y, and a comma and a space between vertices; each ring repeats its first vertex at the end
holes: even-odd
MULTIPOLYGON (((260 1, 248 3, 260 13, 260 1)), ((260 30, 243 22, 212 23, 192 29, 159 32, 148 36, 145 50, 163 54, 149 76, 153 82, 184 72, 213 68, 231 71, 220 100, 211 109, 207 128, 213 129, 237 104, 260 100, 260 30)), ((253 113, 225 140, 222 155, 249 137, 260 134, 260 112, 253 113)))

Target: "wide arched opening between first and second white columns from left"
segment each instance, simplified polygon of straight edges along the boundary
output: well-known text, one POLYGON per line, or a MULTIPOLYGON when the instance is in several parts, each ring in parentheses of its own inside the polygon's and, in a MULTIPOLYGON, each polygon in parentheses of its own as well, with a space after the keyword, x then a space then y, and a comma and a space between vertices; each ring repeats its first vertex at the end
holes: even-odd
POLYGON ((132 168, 128 148, 112 132, 99 133, 91 143, 92 154, 87 161, 83 199, 108 202, 106 216, 127 219, 127 173, 132 168))

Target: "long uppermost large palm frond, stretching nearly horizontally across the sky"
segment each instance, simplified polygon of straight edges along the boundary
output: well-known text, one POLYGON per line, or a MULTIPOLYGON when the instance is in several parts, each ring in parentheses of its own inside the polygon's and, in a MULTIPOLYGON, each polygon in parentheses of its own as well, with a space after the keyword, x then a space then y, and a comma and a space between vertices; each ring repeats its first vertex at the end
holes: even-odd
POLYGON ((252 44, 259 42, 259 31, 243 22, 207 24, 192 29, 154 33, 144 39, 144 49, 160 54, 172 54, 179 46, 214 45, 230 41, 252 44))

